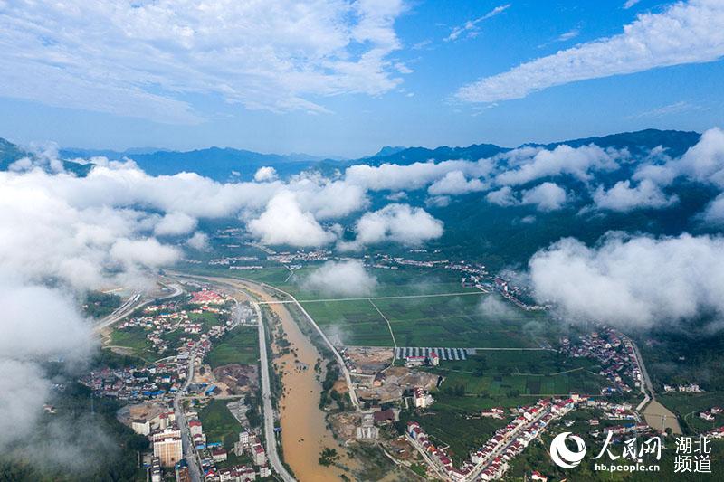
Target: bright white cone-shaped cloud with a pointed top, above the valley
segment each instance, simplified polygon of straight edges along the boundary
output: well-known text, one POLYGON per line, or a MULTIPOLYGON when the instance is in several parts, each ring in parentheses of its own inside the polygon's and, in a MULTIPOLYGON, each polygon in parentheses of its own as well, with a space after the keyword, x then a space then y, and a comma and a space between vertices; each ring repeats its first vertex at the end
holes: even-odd
POLYGON ((262 215, 248 222, 248 228, 266 244, 322 246, 336 238, 319 225, 312 213, 302 211, 295 195, 288 191, 271 198, 262 215))

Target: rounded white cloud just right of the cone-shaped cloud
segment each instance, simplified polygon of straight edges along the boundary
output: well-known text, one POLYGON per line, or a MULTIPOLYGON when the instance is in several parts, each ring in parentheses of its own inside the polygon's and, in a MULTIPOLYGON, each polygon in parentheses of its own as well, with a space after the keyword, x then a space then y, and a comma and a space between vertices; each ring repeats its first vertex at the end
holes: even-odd
POLYGON ((359 218, 355 232, 355 241, 340 243, 340 248, 358 249, 381 242, 417 246, 442 236, 443 222, 433 218, 422 208, 411 207, 409 204, 388 204, 359 218))

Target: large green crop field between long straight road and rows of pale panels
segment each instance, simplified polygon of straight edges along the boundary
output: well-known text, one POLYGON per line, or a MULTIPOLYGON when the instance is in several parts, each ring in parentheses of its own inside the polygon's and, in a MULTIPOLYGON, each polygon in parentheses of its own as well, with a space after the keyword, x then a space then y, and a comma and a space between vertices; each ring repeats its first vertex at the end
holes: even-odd
POLYGON ((524 348, 546 342, 553 329, 540 313, 510 305, 504 317, 491 317, 479 305, 497 297, 478 291, 471 295, 425 298, 324 301, 302 303, 330 336, 346 345, 392 346, 385 319, 398 346, 524 348))

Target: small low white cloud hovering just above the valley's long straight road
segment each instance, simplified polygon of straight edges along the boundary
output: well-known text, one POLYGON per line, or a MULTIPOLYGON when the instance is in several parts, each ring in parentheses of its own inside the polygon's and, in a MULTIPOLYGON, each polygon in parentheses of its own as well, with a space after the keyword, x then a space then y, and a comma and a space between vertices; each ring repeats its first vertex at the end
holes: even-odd
POLYGON ((326 296, 362 297, 371 295, 377 286, 361 261, 327 261, 302 281, 302 288, 326 296))

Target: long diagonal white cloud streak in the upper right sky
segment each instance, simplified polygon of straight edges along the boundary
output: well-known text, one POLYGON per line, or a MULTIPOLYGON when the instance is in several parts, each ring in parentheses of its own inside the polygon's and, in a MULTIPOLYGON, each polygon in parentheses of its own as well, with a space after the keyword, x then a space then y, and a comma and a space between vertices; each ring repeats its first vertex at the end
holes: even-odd
POLYGON ((624 33, 582 43, 462 87, 457 99, 497 102, 578 80, 716 61, 724 55, 724 4, 677 2, 660 14, 639 14, 624 33))

